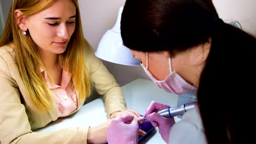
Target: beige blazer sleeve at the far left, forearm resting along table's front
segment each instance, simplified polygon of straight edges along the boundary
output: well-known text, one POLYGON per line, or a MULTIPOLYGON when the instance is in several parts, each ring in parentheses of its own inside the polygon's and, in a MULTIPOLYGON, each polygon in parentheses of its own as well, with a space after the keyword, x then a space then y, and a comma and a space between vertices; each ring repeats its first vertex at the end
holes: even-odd
POLYGON ((0 143, 86 143, 88 127, 35 133, 9 67, 0 56, 0 143))

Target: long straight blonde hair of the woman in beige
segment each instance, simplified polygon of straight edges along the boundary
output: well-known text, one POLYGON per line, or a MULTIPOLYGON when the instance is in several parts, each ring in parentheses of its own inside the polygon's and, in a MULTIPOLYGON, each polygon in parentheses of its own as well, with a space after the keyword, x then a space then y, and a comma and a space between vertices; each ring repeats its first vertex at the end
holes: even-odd
MULTIPOLYGON (((15 19, 14 10, 21 10, 24 13, 21 16, 30 16, 48 8, 53 2, 54 0, 13 0, 0 38, 0 47, 14 43, 21 79, 28 94, 30 94, 32 102, 42 111, 51 109, 53 94, 48 88, 43 75, 40 75, 39 67, 44 68, 44 65, 36 50, 36 44, 29 32, 22 35, 16 21, 19 17, 15 19)), ((83 36, 78 0, 73 0, 73 2, 76 7, 75 31, 69 40, 66 51, 58 56, 62 68, 65 66, 65 70, 73 74, 74 91, 77 92, 79 101, 83 101, 91 93, 90 73, 85 61, 85 49, 89 49, 90 45, 83 36)))

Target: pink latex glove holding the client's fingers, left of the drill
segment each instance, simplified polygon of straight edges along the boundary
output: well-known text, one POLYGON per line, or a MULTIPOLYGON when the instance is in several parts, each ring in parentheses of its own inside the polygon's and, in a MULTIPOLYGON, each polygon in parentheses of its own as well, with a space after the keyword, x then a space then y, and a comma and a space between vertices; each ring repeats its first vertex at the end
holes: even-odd
POLYGON ((107 140, 109 144, 138 143, 139 126, 137 120, 132 121, 133 117, 132 115, 124 115, 112 119, 107 130, 107 140))

